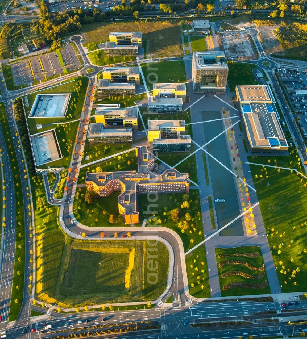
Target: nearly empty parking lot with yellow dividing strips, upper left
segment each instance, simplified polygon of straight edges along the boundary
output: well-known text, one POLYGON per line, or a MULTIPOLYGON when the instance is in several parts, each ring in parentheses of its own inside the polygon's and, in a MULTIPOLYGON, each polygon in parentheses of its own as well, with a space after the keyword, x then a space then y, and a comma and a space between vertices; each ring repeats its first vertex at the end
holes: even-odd
MULTIPOLYGON (((61 55, 68 71, 75 71, 80 66, 80 61, 72 45, 66 45, 61 55)), ((63 67, 55 52, 35 56, 11 65, 14 85, 31 85, 33 81, 44 80, 63 73, 63 67)))

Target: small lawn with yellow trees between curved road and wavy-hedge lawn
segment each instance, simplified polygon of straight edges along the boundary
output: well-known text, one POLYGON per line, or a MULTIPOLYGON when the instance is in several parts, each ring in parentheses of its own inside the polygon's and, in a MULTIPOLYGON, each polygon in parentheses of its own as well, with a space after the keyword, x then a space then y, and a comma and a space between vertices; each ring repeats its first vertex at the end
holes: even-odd
POLYGON ((210 285, 205 245, 186 256, 189 292, 195 298, 210 298, 210 285))

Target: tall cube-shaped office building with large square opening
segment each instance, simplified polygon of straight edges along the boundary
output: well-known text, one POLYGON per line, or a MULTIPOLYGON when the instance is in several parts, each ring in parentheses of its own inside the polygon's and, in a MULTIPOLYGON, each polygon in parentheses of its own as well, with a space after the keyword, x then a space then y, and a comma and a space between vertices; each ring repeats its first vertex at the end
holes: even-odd
POLYGON ((192 81, 195 93, 225 93, 228 66, 224 52, 193 52, 192 81))

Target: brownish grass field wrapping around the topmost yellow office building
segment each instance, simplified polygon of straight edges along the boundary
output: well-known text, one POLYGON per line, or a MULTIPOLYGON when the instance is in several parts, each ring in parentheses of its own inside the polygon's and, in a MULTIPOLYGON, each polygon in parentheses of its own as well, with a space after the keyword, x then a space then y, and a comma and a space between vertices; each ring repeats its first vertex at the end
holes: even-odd
POLYGON ((109 40, 110 32, 142 32, 142 40, 147 41, 147 57, 149 54, 159 57, 183 55, 181 47, 180 22, 167 21, 132 21, 132 22, 96 22, 83 25, 84 45, 90 51, 97 44, 109 40))

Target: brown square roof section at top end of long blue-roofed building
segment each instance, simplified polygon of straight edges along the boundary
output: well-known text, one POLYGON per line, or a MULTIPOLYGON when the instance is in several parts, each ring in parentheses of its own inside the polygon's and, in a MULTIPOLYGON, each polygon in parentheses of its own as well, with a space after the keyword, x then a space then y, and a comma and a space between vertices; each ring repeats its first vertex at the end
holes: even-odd
POLYGON ((240 102, 272 102, 266 85, 236 86, 240 102))

